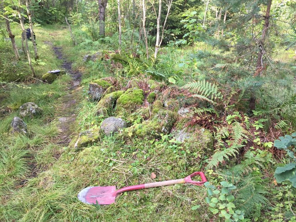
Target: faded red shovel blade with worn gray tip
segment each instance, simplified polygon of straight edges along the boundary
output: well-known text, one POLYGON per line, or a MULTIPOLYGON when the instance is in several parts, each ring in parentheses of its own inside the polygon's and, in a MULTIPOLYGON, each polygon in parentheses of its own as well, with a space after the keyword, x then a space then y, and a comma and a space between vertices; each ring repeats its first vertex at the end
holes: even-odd
POLYGON ((89 186, 78 193, 78 199, 86 204, 109 205, 115 203, 115 186, 89 186))

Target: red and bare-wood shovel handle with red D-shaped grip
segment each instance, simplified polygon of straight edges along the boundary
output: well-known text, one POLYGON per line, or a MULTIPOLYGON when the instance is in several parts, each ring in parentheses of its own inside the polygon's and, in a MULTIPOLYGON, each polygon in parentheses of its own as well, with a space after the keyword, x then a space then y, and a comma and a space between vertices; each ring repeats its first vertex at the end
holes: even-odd
POLYGON ((121 189, 118 189, 116 191, 116 194, 120 194, 120 193, 131 191, 131 190, 140 190, 140 189, 147 189, 147 188, 153 188, 153 187, 159 187, 159 186, 170 186, 174 184, 188 183, 188 184, 193 184, 197 186, 202 186, 205 182, 207 182, 207 178, 205 177, 205 174, 203 172, 194 172, 183 179, 167 180, 167 181, 160 181, 160 182, 154 182, 154 183, 148 183, 148 184, 139 184, 134 186, 123 187, 121 189), (200 175, 202 181, 193 181, 191 179, 192 177, 197 175, 200 175))

